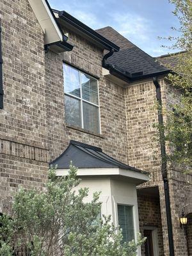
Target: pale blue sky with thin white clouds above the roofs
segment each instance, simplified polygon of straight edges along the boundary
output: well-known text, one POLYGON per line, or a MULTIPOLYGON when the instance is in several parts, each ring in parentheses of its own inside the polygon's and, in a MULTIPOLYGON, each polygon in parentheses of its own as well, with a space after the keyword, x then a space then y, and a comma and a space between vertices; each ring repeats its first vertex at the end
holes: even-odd
POLYGON ((127 0, 122 1, 119 6, 116 6, 116 0, 94 0, 91 2, 89 0, 71 0, 70 3, 63 0, 49 0, 49 2, 52 8, 65 10, 90 28, 113 27, 152 56, 168 52, 168 49, 161 48, 163 42, 157 40, 158 35, 164 34, 163 27, 159 26, 154 21, 154 17, 148 15, 146 10, 143 10, 143 7, 141 8, 138 4, 136 10, 133 10, 127 8, 127 0), (139 7, 141 8, 140 12, 138 12, 139 7))

